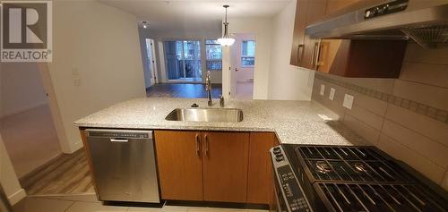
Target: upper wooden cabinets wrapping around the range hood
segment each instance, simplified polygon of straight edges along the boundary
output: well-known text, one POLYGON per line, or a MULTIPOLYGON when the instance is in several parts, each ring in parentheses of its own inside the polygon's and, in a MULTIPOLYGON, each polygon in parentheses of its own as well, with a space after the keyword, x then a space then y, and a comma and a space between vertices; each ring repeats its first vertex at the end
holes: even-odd
POLYGON ((312 39, 305 35, 307 25, 358 1, 297 0, 290 64, 343 77, 398 78, 406 41, 312 39))

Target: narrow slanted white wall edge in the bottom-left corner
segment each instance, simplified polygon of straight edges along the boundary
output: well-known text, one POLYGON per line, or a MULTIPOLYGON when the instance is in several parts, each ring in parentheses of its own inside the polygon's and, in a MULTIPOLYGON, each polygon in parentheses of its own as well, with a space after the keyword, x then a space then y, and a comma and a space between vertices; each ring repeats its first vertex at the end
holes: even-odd
POLYGON ((11 205, 26 197, 25 191, 17 180, 11 159, 8 156, 6 148, 4 148, 2 135, 0 135, 0 184, 11 205))

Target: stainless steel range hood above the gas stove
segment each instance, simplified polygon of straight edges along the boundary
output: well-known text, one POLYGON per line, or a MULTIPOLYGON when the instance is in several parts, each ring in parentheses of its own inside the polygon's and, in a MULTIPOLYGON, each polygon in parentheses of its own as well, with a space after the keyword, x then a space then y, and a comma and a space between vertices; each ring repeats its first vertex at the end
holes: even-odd
POLYGON ((448 47, 448 0, 365 0, 306 27, 310 38, 413 39, 448 47))

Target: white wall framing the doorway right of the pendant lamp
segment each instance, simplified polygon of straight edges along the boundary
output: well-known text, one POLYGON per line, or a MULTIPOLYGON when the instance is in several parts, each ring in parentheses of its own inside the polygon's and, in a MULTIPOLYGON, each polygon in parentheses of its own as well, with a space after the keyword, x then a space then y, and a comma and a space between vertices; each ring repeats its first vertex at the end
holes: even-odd
MULTIPOLYGON (((271 64, 271 18, 228 19, 229 33, 252 33, 256 39, 254 67, 254 99, 268 98, 269 72, 271 64)), ((228 52, 230 54, 230 52, 228 52)), ((223 55, 223 64, 230 64, 230 55, 223 55)), ((225 67, 223 65, 223 67, 225 67)), ((228 70, 224 69, 223 70, 228 70)), ((229 86, 228 72, 222 73, 223 92, 229 86)))

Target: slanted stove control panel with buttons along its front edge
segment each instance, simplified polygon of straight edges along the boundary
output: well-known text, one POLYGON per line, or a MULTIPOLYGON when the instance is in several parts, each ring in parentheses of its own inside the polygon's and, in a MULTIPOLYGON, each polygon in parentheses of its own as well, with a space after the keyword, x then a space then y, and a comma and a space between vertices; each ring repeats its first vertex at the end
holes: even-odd
POLYGON ((277 191, 280 194, 277 198, 283 199, 285 205, 288 207, 282 208, 282 210, 288 210, 289 212, 312 212, 313 210, 309 207, 309 203, 304 196, 304 191, 297 180, 297 176, 292 171, 288 157, 280 146, 271 148, 271 158, 276 178, 274 180, 279 185, 276 189, 280 190, 277 191))

